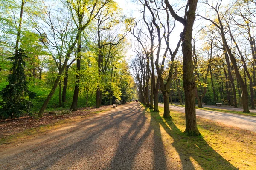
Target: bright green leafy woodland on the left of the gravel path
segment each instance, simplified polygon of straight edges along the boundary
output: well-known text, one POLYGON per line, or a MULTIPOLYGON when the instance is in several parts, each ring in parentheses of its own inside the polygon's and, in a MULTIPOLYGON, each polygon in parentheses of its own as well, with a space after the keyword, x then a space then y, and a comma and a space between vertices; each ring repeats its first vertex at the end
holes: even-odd
POLYGON ((1 0, 0 13, 2 119, 135 99, 115 1, 1 0))

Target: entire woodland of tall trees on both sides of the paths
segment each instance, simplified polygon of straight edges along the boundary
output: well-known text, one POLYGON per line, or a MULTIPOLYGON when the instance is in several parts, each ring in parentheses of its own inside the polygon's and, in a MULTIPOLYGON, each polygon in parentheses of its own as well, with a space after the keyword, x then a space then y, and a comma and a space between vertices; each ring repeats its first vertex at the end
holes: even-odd
POLYGON ((1 0, 1 118, 137 98, 170 117, 185 102, 199 135, 196 103, 255 108, 253 0, 134 0, 137 16, 118 2, 1 0))

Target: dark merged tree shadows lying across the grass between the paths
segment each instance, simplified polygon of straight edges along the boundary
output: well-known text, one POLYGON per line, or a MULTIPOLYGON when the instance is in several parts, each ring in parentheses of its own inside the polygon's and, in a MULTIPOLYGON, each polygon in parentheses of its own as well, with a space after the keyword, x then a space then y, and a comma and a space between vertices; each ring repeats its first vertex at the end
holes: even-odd
MULTIPOLYGON (((159 122, 166 133, 174 140, 172 146, 175 147, 180 156, 183 169, 194 170, 194 161, 205 170, 237 169, 209 146, 203 137, 188 136, 181 132, 172 122, 172 119, 165 119, 168 126, 163 119, 157 119, 157 117, 161 117, 159 113, 151 112, 151 119, 159 122)), ((157 128, 157 130, 159 129, 157 128)))

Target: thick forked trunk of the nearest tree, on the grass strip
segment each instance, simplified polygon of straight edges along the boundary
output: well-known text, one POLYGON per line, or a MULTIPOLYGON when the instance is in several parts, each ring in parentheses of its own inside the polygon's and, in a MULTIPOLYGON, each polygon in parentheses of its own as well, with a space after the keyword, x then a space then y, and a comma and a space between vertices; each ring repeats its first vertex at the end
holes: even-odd
POLYGON ((192 59, 192 31, 195 21, 195 10, 198 0, 188 0, 185 8, 185 16, 180 17, 175 13, 169 0, 164 0, 167 8, 169 9, 172 17, 183 24, 184 29, 180 34, 182 40, 182 54, 183 54, 183 86, 185 91, 185 118, 186 129, 185 132, 190 135, 200 135, 196 124, 195 116, 195 79, 194 67, 192 59))

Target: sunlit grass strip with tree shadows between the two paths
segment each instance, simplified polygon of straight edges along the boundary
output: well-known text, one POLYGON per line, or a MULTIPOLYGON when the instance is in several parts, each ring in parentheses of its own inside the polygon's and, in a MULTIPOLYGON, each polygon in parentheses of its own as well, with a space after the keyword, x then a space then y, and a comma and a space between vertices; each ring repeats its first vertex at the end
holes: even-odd
POLYGON ((162 138, 165 149, 172 159, 180 161, 183 169, 204 170, 254 170, 256 167, 256 133, 218 124, 198 118, 202 136, 188 136, 185 130, 185 114, 171 111, 172 119, 163 118, 163 108, 151 117, 154 132, 162 138))

